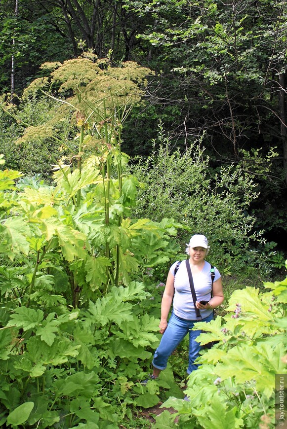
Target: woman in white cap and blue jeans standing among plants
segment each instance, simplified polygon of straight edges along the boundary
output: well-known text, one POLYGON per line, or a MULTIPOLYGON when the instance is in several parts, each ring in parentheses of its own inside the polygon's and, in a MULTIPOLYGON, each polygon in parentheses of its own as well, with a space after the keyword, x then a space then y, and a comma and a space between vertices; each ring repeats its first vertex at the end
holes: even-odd
MULTIPOLYGON (((196 307, 200 310, 202 316, 201 322, 210 322, 213 319, 213 309, 222 304, 224 299, 221 276, 215 267, 215 277, 212 285, 210 276, 211 266, 205 261, 208 250, 208 242, 204 235, 195 234, 191 237, 187 254, 189 255, 189 264, 197 296, 196 307), (200 301, 207 301, 207 303, 201 304, 200 301)), ((191 294, 187 267, 185 263, 181 263, 174 275, 176 264, 175 262, 170 267, 164 289, 161 322, 159 325, 160 333, 163 334, 163 337, 153 358, 154 371, 151 376, 152 379, 158 378, 160 372, 166 368, 168 357, 188 332, 189 363, 187 373, 190 374, 198 368, 198 365, 194 361, 199 356, 201 346, 195 339, 201 334, 201 330, 191 330, 197 323, 197 316, 191 294), (167 323, 172 302, 173 310, 167 323)))

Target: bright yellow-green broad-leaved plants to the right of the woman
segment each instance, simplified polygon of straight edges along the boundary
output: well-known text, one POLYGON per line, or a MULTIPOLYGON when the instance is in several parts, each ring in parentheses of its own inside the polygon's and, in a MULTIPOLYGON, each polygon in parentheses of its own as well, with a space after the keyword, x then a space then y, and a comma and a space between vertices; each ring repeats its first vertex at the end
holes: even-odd
POLYGON ((190 402, 170 397, 163 406, 177 412, 164 411, 153 428, 277 427, 275 375, 287 373, 287 278, 264 286, 235 290, 227 315, 202 324, 199 341, 219 343, 189 377, 190 402))

